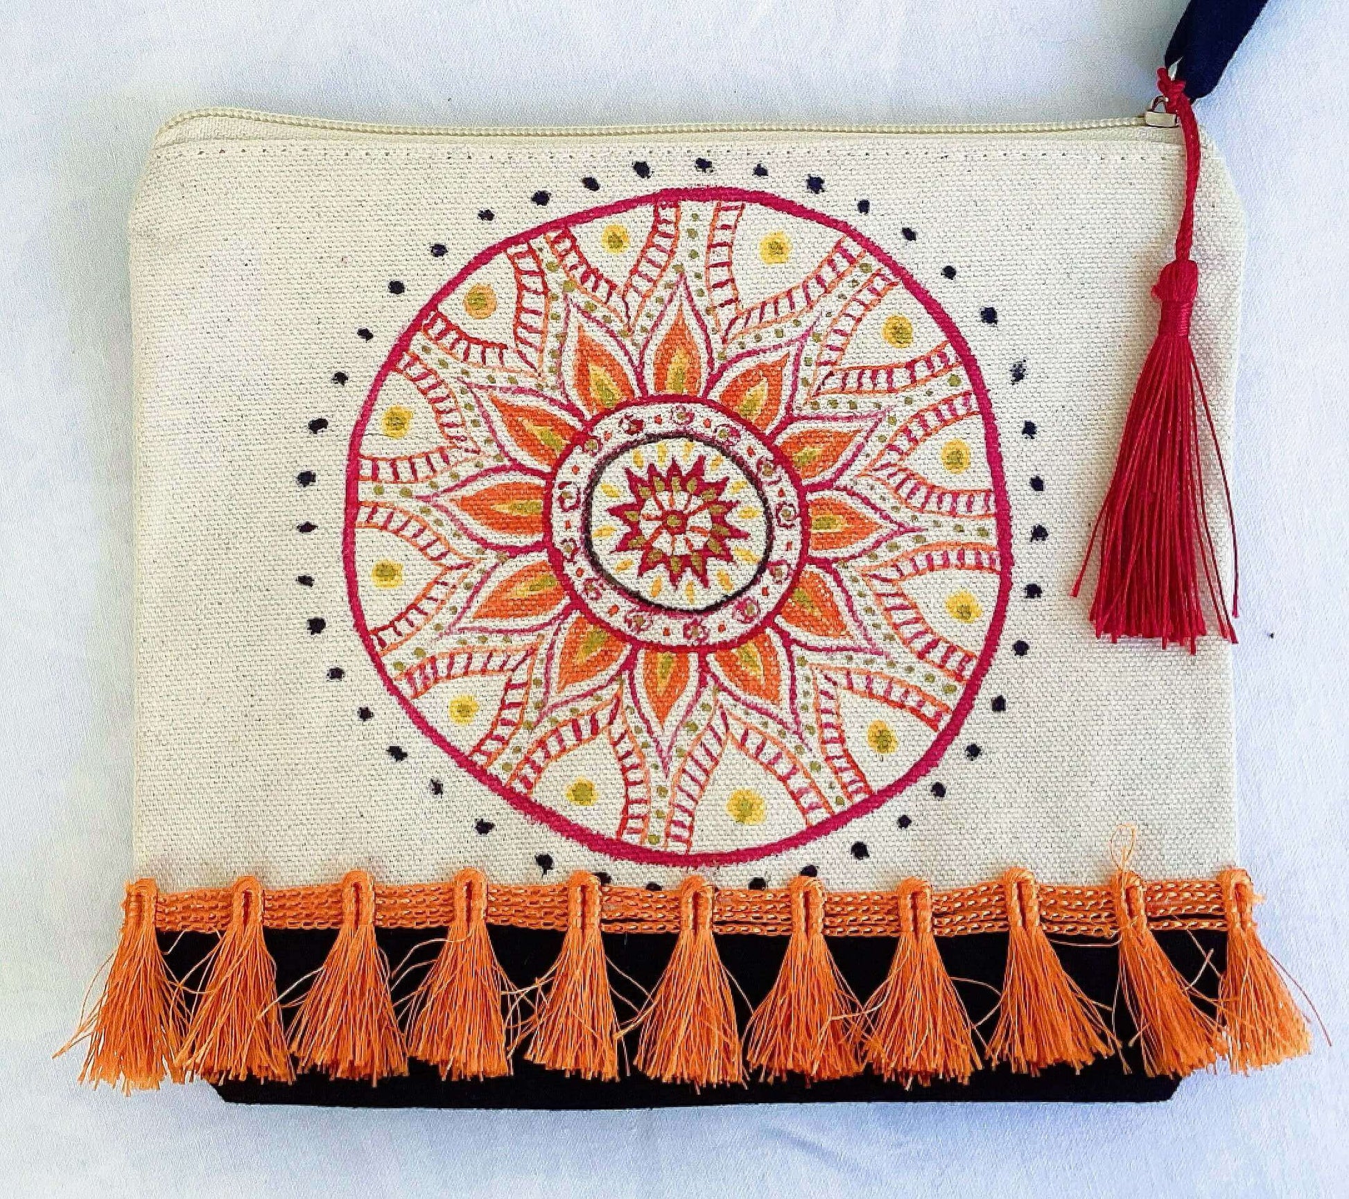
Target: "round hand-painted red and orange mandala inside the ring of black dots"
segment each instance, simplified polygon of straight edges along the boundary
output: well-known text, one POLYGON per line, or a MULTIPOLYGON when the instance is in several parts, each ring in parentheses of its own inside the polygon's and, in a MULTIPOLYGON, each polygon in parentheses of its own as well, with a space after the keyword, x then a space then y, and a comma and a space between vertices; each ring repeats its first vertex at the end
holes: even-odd
POLYGON ((904 790, 998 639, 959 330, 781 198, 662 192, 479 255, 356 422, 356 626, 422 732, 604 852, 745 860, 904 790))

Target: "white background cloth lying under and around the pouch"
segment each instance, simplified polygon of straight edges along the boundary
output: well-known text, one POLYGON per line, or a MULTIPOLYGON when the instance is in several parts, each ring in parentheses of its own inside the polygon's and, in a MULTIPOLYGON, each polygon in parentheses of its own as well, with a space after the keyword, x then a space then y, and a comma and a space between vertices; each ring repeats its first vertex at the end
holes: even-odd
MULTIPOLYGON (((1180 0, 0 4, 0 1177, 15 1195, 1336 1195, 1344 1052, 1156 1107, 664 1113, 123 1101, 49 1053, 130 862, 124 220, 154 128, 237 104, 441 124, 1047 120, 1137 112, 1180 0)), ((1346 1026, 1349 11, 1272 0, 1201 117, 1246 205, 1233 469, 1242 859, 1346 1026)))

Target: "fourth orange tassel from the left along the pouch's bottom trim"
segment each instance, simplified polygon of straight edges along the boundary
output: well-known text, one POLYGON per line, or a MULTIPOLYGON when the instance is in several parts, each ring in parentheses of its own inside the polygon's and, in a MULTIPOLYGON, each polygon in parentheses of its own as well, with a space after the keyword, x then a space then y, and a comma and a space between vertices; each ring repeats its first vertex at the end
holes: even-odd
POLYGON ((487 933, 487 877, 460 870, 453 887, 453 924, 409 1005, 407 1052, 442 1079, 500 1078, 510 1074, 502 1014, 510 979, 487 933))

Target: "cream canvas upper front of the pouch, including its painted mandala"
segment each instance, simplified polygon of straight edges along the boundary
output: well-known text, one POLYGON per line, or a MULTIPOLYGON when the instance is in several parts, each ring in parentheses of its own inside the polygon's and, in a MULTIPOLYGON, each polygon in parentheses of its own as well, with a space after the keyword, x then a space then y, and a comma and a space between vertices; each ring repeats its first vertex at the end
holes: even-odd
MULTIPOLYGON (((1230 865, 1229 646, 1098 642, 1068 593, 1182 171, 1141 123, 171 123, 131 220, 138 871, 1095 883, 1121 825, 1145 875, 1230 865), (642 486, 695 473, 661 531, 642 486)), ((1241 255, 1206 146, 1222 438, 1241 255)))

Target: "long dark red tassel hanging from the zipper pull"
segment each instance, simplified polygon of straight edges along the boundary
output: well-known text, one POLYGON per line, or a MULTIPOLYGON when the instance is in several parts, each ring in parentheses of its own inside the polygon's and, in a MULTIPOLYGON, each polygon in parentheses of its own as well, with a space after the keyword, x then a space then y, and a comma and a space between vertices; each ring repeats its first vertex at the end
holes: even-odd
MULTIPOLYGON (((1082 571, 1099 539, 1099 573, 1091 600, 1097 637, 1160 638, 1161 645, 1184 645, 1207 633, 1205 607, 1214 615, 1217 634, 1236 642, 1218 572, 1203 484, 1203 425, 1213 441, 1228 523, 1232 496, 1222 465, 1213 413, 1190 345, 1190 312, 1199 286, 1199 268, 1190 259, 1194 240, 1194 194, 1199 182, 1199 128, 1184 94, 1184 84, 1157 71, 1167 112, 1176 116, 1186 148, 1186 190, 1175 260, 1161 268, 1152 289, 1161 301, 1157 336, 1133 391, 1120 437, 1114 476, 1091 530, 1082 571)), ((1232 615, 1237 612, 1237 545, 1232 537, 1232 615)))

